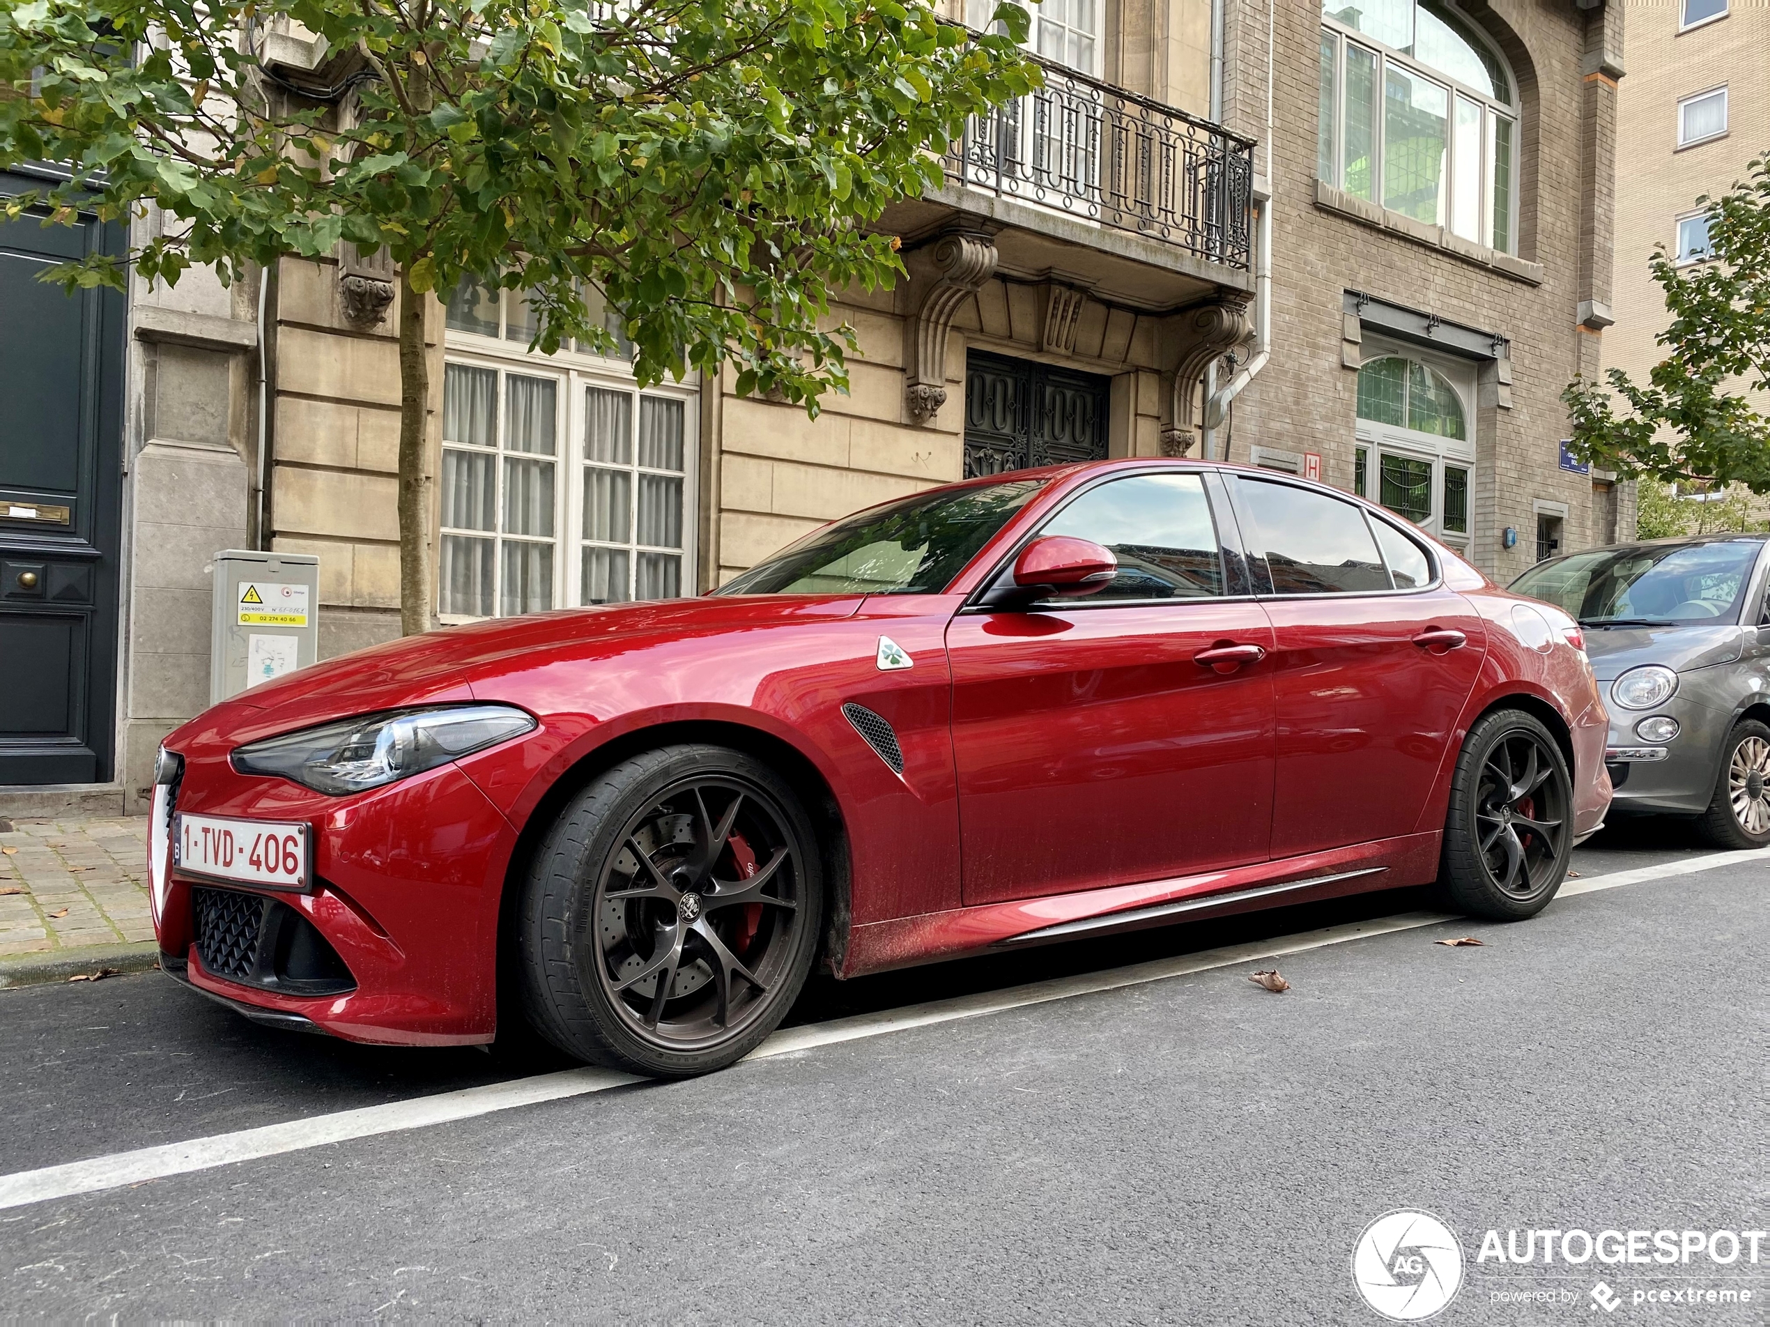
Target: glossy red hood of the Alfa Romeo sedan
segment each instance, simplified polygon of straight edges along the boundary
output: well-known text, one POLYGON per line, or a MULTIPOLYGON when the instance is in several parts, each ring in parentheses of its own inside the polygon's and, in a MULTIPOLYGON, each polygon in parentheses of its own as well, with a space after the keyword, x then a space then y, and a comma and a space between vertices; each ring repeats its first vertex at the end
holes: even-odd
POLYGON ((290 672, 207 710, 168 743, 202 733, 250 741, 331 718, 411 704, 473 701, 506 667, 529 667, 552 655, 627 655, 655 640, 720 632, 754 632, 795 621, 851 617, 864 596, 756 594, 660 600, 598 609, 563 609, 444 626, 423 635, 358 649, 290 672))

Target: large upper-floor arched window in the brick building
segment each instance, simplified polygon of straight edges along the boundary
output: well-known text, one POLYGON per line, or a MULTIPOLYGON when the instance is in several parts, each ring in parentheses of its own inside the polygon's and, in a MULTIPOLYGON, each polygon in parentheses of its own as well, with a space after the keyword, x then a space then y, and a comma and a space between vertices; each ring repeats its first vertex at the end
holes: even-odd
POLYGON ((1517 85, 1439 0, 1324 0, 1317 173, 1476 244, 1517 237, 1517 85))

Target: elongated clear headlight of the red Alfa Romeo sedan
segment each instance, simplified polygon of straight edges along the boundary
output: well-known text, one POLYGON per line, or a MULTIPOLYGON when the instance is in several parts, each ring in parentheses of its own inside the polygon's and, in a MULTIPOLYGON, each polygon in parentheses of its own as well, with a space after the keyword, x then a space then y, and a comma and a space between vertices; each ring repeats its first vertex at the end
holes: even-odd
POLYGON ((363 715, 285 733, 234 752, 241 773, 281 775, 315 793, 381 787, 538 727, 506 704, 451 704, 363 715))

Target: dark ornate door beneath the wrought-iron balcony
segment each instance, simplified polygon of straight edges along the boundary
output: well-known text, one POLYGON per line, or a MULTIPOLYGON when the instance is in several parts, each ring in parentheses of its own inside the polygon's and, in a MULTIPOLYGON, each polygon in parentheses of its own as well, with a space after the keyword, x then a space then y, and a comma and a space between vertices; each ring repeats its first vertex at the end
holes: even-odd
POLYGON ((965 357, 965 478, 1106 460, 1110 382, 972 350, 965 357))

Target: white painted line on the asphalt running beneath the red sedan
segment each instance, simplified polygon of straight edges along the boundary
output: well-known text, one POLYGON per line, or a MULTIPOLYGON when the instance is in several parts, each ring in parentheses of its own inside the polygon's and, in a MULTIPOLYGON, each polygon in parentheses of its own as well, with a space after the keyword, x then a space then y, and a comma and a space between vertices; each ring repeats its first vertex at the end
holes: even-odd
MULTIPOLYGON (((1747 862, 1770 860, 1770 848, 1747 849, 1742 853, 1712 853, 1683 862, 1666 862, 1635 871, 1618 871, 1605 876, 1570 879, 1561 886, 1561 897, 1612 890, 1621 885, 1641 885, 1653 879, 1673 879, 1696 871, 1742 865, 1747 862)), ((1370 936, 1393 934, 1397 931, 1414 931, 1439 922, 1453 922, 1453 913, 1397 913, 1370 922, 1349 922, 1320 931, 1304 931, 1294 936, 1278 936, 1248 945, 1225 945, 1223 948, 1202 950, 1174 959, 1156 959, 1110 971, 1083 973, 1080 977, 1057 977, 1048 982, 1030 982, 1005 991, 986 991, 979 994, 958 996, 954 1000, 936 1000, 926 1005, 908 1005, 881 1014, 860 1014, 850 1019, 830 1023, 812 1023, 800 1028, 782 1028, 752 1051, 749 1060, 770 1060, 779 1055, 796 1055, 818 1046, 835 1046, 837 1042, 860 1040, 862 1037, 883 1037, 889 1032, 906 1028, 926 1028, 936 1023, 1000 1014, 1009 1009, 1041 1005, 1051 1000, 1071 1000, 1081 994, 1101 991, 1119 991, 1127 986, 1161 982, 1170 977, 1209 971, 1212 968, 1234 968, 1257 959, 1276 959, 1285 954, 1301 954, 1326 945, 1343 945, 1349 940, 1366 940, 1370 936)), ((306 1120, 289 1120, 269 1124, 258 1129, 242 1129, 232 1134, 214 1134, 211 1138, 193 1138, 186 1143, 163 1143, 143 1147, 135 1152, 117 1152, 90 1161, 71 1161, 62 1166, 44 1166, 42 1170, 0 1175, 0 1210, 25 1207, 28 1203, 46 1203, 57 1198, 73 1198, 83 1193, 101 1193, 120 1189, 131 1184, 166 1178, 168 1175, 189 1175, 191 1171, 230 1166, 239 1161, 258 1161, 285 1152, 301 1152, 327 1143, 345 1143, 352 1138, 373 1138, 375 1134, 404 1132, 407 1129, 425 1129, 435 1124, 471 1120, 480 1115, 508 1111, 517 1106, 538 1106, 547 1101, 582 1097, 591 1092, 628 1086, 646 1079, 632 1074, 618 1074, 609 1069, 568 1069, 558 1074, 538 1074, 512 1083, 492 1083, 483 1088, 464 1088, 460 1092, 442 1092, 430 1097, 395 1101, 386 1106, 363 1106, 352 1111, 335 1111, 331 1115, 313 1115, 306 1120)))

